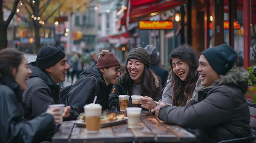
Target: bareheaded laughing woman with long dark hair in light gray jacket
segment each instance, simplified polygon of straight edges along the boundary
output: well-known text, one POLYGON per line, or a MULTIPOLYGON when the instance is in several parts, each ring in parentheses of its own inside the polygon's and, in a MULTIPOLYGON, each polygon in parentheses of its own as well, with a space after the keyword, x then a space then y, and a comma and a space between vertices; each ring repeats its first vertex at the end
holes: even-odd
POLYGON ((198 56, 187 44, 175 48, 170 55, 171 73, 162 101, 173 106, 190 106, 198 100, 196 91, 201 80, 197 72, 198 56))

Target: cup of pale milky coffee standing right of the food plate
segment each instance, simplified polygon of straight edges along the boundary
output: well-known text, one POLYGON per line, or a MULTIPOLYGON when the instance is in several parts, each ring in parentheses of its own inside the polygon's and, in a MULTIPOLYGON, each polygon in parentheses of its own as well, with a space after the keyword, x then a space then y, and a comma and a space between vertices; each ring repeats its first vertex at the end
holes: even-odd
POLYGON ((126 108, 127 117, 128 117, 128 128, 134 129, 139 128, 139 117, 141 108, 139 107, 128 107, 126 108))

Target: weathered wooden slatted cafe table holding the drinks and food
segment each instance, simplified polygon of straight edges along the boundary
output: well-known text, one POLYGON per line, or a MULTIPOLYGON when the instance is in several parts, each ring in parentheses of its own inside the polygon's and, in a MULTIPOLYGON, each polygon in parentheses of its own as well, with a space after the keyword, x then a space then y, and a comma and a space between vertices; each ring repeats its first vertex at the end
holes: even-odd
POLYGON ((195 136, 190 132, 177 125, 165 124, 148 111, 141 111, 140 120, 137 129, 128 129, 128 124, 123 123, 101 128, 96 134, 87 133, 86 128, 76 127, 73 121, 64 121, 54 134, 52 143, 195 142, 195 136))

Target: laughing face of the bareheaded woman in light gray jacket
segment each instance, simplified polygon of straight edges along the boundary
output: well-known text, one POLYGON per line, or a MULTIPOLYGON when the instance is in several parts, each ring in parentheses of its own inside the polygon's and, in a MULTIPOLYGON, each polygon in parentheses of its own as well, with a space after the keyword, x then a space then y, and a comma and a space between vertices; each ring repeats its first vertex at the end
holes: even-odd
POLYGON ((189 73, 189 63, 182 61, 181 59, 174 57, 172 59, 173 72, 180 77, 180 80, 185 81, 186 76, 189 73))

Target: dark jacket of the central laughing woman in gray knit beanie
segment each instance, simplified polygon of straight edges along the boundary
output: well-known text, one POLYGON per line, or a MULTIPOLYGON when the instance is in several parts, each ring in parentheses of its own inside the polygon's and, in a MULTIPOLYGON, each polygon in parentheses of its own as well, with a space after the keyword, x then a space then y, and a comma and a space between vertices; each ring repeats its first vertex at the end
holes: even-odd
MULTIPOLYGON (((119 106, 119 95, 129 95, 129 89, 126 83, 124 83, 123 80, 123 76, 124 74, 122 74, 118 79, 117 79, 117 84, 113 86, 112 92, 109 95, 109 99, 108 99, 108 104, 110 106, 110 108, 112 108, 112 106, 116 106, 117 110, 120 110, 120 106, 119 106)), ((155 101, 159 101, 160 99, 162 99, 162 84, 161 82, 158 81, 157 77, 155 76, 155 85, 157 87, 157 91, 158 94, 157 95, 152 95, 152 99, 155 101)), ((132 90, 132 88, 130 89, 132 90)), ((142 95, 142 96, 146 96, 146 95, 142 95)), ((149 95, 150 97, 150 95, 149 95)), ((128 107, 132 106, 132 98, 129 98, 129 104, 128 107)))

